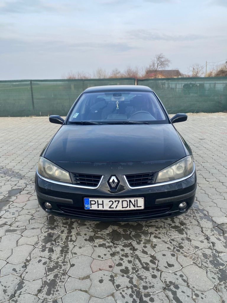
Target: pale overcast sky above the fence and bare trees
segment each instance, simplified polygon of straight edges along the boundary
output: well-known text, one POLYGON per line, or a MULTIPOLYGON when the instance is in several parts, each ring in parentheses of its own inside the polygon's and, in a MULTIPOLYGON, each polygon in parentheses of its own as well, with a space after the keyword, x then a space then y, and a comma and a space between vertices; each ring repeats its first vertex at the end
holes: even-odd
POLYGON ((227 0, 0 0, 0 80, 123 71, 161 52, 186 73, 227 59, 226 16, 227 0))

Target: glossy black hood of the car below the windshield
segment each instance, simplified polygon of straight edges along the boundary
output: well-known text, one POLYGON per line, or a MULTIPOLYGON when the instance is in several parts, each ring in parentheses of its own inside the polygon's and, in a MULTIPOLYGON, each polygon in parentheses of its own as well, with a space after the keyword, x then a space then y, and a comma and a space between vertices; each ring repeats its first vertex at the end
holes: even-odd
POLYGON ((171 124, 63 125, 43 156, 56 164, 59 161, 173 163, 186 154, 171 124))

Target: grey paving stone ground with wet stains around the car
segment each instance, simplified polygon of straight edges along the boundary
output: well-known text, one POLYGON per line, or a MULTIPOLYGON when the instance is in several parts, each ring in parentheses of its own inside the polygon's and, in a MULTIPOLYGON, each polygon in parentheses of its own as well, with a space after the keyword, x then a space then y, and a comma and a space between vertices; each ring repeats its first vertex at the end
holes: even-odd
POLYGON ((227 113, 175 125, 196 162, 193 207, 111 224, 42 211, 35 169, 59 126, 0 119, 0 302, 227 303, 227 113))

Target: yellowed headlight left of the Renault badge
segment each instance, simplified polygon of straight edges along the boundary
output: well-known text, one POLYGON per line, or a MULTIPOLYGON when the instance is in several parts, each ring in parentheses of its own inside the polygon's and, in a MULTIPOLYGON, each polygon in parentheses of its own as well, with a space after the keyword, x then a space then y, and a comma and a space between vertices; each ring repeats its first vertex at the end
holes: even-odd
POLYGON ((43 157, 39 157, 37 170, 38 173, 45 178, 72 183, 67 171, 43 157))

